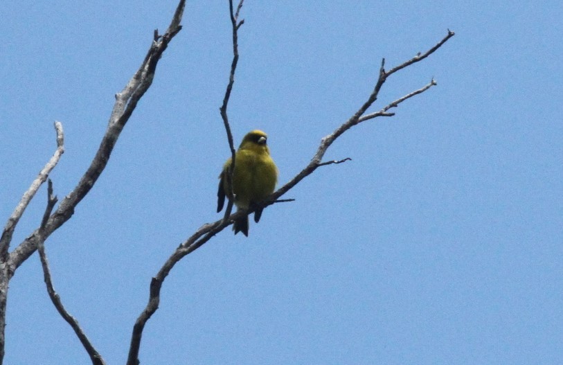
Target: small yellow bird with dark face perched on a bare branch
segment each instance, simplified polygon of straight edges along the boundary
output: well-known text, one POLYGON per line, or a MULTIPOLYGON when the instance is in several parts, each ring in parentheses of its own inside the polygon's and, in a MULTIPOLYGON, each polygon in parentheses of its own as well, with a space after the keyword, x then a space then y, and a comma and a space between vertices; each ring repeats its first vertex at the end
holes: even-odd
MULTIPOLYGON (((266 144, 267 134, 261 130, 249 132, 238 148, 235 155, 235 171, 233 172, 234 203, 239 211, 247 211, 265 200, 274 193, 278 181, 278 168, 270 157, 270 151, 266 144)), ((231 167, 231 159, 228 159, 219 178, 219 189, 217 190, 217 213, 220 212, 225 203, 225 197, 233 200, 231 187, 229 186, 228 174, 231 167)), ((262 209, 254 212, 254 221, 258 223, 262 209)), ((236 220, 233 224, 235 234, 242 232, 249 235, 248 215, 236 220)))

